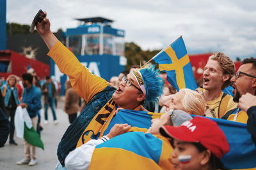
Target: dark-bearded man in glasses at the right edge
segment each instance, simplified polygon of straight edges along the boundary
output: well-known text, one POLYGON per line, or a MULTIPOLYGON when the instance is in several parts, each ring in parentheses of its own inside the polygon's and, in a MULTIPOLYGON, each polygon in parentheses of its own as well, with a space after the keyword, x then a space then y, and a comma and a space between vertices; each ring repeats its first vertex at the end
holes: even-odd
MULTIPOLYGON (((255 96, 256 95, 256 59, 253 57, 244 59, 236 75, 233 76, 233 78, 230 81, 233 83, 232 84, 232 87, 234 87, 233 100, 236 103, 239 102, 239 99, 244 94, 249 93, 255 96)), ((246 111, 241 110, 241 108, 236 108, 228 111, 223 118, 246 124, 248 120, 248 115, 246 111)))

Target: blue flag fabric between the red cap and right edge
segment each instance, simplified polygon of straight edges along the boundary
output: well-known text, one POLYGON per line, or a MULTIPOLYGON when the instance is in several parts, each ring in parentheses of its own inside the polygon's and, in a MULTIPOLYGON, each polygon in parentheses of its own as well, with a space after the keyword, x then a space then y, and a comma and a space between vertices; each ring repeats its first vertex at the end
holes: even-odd
POLYGON ((256 169, 256 145, 246 129, 246 124, 220 118, 210 119, 219 125, 228 140, 230 150, 221 159, 225 167, 228 169, 256 169))

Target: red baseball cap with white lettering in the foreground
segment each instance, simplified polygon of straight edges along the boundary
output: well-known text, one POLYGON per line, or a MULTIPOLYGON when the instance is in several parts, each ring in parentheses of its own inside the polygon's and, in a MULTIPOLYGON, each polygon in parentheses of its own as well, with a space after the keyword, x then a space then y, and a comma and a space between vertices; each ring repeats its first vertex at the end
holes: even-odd
POLYGON ((221 159, 229 151, 227 138, 216 122, 209 118, 195 117, 179 127, 163 125, 160 132, 168 138, 186 142, 199 142, 221 159))

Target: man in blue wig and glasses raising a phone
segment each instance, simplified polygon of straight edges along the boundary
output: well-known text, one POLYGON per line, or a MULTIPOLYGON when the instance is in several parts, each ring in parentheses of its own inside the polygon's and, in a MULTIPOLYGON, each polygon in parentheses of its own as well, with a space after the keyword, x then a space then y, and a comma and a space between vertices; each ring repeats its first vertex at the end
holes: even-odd
MULTIPOLYGON (((46 13, 45 13, 46 15, 46 13)), ((58 160, 62 166, 68 153, 90 139, 99 138, 115 115, 117 108, 142 110, 142 104, 155 103, 163 92, 163 79, 154 66, 141 68, 122 78, 118 89, 108 81, 93 75, 52 34, 48 18, 36 24, 38 34, 49 48, 52 57, 62 73, 68 75, 74 90, 83 97, 87 105, 78 118, 68 127, 58 146, 58 160)), ((58 165, 57 169, 61 169, 58 165)))

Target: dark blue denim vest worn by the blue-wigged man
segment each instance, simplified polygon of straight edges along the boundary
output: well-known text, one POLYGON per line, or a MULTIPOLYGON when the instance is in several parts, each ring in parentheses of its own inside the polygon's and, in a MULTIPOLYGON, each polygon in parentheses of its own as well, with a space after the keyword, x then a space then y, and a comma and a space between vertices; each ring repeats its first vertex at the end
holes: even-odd
POLYGON ((67 131, 61 138, 57 150, 58 159, 60 160, 61 165, 64 166, 65 158, 70 151, 76 148, 77 141, 79 141, 84 129, 100 109, 111 99, 115 90, 116 89, 114 87, 108 86, 101 92, 95 94, 86 107, 84 107, 79 117, 77 117, 76 120, 74 120, 74 122, 68 127, 67 131))

